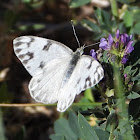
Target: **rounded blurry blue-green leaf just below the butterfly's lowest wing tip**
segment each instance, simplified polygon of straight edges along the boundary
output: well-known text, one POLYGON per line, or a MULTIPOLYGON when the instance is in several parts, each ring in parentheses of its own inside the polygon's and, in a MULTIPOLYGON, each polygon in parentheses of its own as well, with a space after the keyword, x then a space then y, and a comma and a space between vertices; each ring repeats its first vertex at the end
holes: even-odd
POLYGON ((66 119, 59 119, 54 124, 56 134, 65 136, 66 139, 77 140, 76 134, 72 131, 66 119))

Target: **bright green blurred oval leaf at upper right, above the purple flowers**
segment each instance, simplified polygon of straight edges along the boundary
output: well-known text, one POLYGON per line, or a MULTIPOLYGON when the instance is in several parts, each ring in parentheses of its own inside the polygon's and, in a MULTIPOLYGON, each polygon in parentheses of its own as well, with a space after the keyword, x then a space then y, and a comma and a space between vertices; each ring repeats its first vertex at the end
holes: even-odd
POLYGON ((131 11, 126 10, 123 16, 124 24, 126 27, 131 27, 133 25, 133 15, 131 11))

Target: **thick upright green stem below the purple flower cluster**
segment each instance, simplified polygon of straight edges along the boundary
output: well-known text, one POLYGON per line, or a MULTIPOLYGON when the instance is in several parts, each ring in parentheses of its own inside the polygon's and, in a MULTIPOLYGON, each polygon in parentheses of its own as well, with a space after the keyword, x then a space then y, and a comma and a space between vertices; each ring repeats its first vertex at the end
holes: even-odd
POLYGON ((133 140, 132 135, 132 129, 129 123, 128 118, 128 107, 125 103, 125 95, 124 95, 124 87, 123 82, 121 78, 121 73, 118 65, 113 65, 113 71, 114 71, 114 87, 115 87, 115 94, 118 98, 117 102, 117 110, 118 115, 121 116, 119 119, 120 129, 124 131, 122 134, 123 140, 133 140))

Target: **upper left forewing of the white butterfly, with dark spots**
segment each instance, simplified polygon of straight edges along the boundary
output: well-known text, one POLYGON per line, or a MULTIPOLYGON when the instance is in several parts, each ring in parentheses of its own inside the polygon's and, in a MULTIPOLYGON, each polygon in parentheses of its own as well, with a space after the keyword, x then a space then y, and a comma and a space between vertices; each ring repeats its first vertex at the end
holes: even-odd
POLYGON ((13 44, 15 54, 32 76, 42 73, 48 62, 73 54, 64 44, 41 37, 21 36, 13 44))

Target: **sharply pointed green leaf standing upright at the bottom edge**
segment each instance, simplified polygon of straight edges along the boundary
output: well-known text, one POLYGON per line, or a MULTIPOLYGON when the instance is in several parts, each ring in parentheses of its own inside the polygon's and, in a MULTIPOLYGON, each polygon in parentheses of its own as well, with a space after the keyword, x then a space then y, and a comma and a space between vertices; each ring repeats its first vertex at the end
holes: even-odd
POLYGON ((94 129, 89 125, 87 120, 80 113, 78 114, 78 123, 80 126, 81 133, 85 140, 99 140, 94 129))

